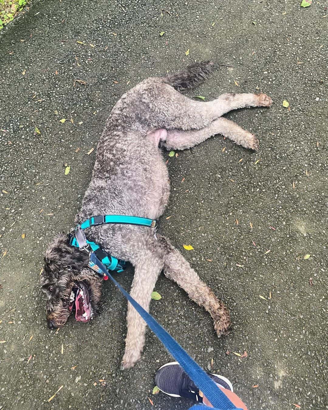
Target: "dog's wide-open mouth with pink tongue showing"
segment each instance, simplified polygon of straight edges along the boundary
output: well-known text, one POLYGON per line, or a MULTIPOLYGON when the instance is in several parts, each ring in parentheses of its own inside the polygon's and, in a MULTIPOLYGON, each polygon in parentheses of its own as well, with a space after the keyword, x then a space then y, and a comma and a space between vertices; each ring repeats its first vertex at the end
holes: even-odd
POLYGON ((83 282, 77 282, 72 289, 69 299, 69 310, 72 312, 75 305, 75 319, 78 322, 89 322, 92 319, 92 307, 89 291, 83 282))

